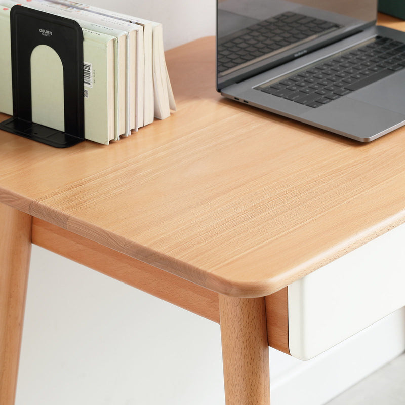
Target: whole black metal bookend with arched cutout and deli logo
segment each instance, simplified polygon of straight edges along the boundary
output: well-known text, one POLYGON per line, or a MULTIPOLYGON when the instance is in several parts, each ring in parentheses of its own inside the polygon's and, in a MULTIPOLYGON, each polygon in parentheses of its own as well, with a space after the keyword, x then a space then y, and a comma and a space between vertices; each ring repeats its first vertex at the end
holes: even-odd
POLYGON ((0 129, 57 148, 73 146, 85 139, 83 99, 83 32, 68 18, 19 5, 11 9, 11 61, 13 117, 0 129), (32 122, 31 53, 48 45, 63 66, 65 132, 32 122))

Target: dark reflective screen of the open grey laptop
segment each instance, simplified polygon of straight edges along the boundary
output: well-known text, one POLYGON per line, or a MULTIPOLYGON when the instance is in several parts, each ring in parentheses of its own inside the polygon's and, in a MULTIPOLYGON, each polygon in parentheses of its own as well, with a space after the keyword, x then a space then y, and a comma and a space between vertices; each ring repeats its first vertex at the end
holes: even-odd
POLYGON ((217 89, 375 23, 377 0, 217 0, 217 89))

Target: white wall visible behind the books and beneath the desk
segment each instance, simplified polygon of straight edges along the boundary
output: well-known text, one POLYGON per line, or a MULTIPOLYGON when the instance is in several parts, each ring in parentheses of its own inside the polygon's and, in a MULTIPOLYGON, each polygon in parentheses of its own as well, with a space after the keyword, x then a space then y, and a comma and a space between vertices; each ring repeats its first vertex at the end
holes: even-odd
MULTIPOLYGON (((214 0, 89 3, 162 22, 166 49, 215 33, 214 0)), ((404 318, 309 362, 271 350, 272 405, 320 405, 380 367, 404 318)), ((218 325, 33 247, 16 405, 223 405, 222 384, 218 325)))

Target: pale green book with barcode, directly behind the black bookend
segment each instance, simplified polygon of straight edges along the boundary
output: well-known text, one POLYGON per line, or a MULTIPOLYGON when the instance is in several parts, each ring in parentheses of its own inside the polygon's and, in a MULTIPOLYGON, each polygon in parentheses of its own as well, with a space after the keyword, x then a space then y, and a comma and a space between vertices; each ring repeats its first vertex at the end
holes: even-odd
MULTIPOLYGON (((0 32, 9 33, 6 36, 8 41, 4 41, 9 44, 9 53, 6 54, 8 59, 0 64, 0 74, 9 78, 5 80, 9 86, 0 93, 0 110, 3 109, 2 103, 12 101, 10 6, 14 5, 10 0, 2 0, 2 3, 5 4, 0 7, 0 32), (3 18, 6 15, 8 18, 3 18)), ((116 38, 86 29, 83 37, 85 138, 108 145, 115 135, 116 38)), ((3 47, 1 41, 0 50, 3 47)), ((32 120, 64 131, 63 67, 56 52, 45 45, 36 47, 31 55, 31 92, 32 120), (47 68, 44 69, 44 66, 47 68)))

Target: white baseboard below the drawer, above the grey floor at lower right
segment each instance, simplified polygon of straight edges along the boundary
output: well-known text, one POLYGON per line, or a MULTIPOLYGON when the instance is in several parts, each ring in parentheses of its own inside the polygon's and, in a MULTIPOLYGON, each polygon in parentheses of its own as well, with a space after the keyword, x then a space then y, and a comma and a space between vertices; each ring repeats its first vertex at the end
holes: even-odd
MULTIPOLYGON (((290 367, 272 378, 271 404, 323 405, 403 351, 405 308, 312 360, 289 360, 290 367)), ((270 358, 279 363, 281 354, 271 351, 270 358)))

